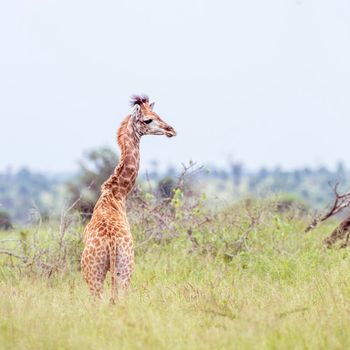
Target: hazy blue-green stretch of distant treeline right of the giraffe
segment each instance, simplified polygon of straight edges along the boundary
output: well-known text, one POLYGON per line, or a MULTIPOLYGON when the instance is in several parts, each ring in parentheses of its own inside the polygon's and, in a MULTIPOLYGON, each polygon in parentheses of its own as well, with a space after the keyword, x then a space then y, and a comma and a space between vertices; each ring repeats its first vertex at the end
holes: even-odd
POLYGON ((242 164, 233 163, 228 169, 211 167, 201 175, 201 180, 208 184, 215 180, 217 185, 213 191, 220 193, 221 188, 221 191, 230 191, 234 198, 247 194, 291 194, 315 208, 325 206, 332 199, 334 184, 339 183, 344 191, 350 190, 350 172, 343 163, 334 170, 321 166, 289 171, 279 167, 246 171, 242 164))

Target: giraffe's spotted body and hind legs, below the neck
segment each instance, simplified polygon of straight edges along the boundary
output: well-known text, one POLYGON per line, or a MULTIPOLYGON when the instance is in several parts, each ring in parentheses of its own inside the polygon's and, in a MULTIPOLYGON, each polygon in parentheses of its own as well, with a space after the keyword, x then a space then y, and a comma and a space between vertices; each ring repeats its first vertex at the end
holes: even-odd
POLYGON ((112 275, 112 299, 116 286, 129 285, 134 268, 133 240, 125 215, 125 203, 111 194, 97 202, 84 235, 82 270, 90 292, 101 298, 108 271, 112 275), (112 208, 112 209, 111 209, 112 208))

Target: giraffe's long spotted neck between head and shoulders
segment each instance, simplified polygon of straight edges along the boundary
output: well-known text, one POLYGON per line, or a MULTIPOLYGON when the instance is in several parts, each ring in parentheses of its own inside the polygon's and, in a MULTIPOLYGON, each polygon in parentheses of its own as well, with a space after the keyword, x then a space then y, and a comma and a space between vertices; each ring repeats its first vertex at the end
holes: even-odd
POLYGON ((135 185, 140 163, 140 135, 131 118, 127 120, 125 130, 120 131, 118 143, 121 149, 119 164, 102 185, 102 190, 111 192, 114 197, 126 199, 135 185))

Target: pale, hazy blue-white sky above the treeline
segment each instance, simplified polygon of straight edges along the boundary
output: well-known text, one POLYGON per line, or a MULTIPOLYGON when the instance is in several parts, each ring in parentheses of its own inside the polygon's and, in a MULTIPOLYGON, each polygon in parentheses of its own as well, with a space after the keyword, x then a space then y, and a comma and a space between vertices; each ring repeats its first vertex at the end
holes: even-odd
POLYGON ((350 167, 348 0, 0 1, 0 171, 74 171, 146 93, 141 166, 350 167))

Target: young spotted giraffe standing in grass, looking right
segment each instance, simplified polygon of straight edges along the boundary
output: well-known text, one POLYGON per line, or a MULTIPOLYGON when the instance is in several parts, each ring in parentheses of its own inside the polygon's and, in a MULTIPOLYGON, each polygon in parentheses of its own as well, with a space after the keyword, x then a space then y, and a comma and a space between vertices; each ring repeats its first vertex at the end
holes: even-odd
POLYGON ((81 266, 94 298, 101 298, 108 270, 112 276, 111 301, 117 286, 130 284, 134 269, 133 239, 126 217, 125 201, 133 188, 140 161, 140 138, 143 135, 176 135, 175 130, 153 112, 154 103, 147 96, 133 96, 132 113, 118 129, 121 157, 118 166, 102 185, 89 224, 84 231, 81 266))

